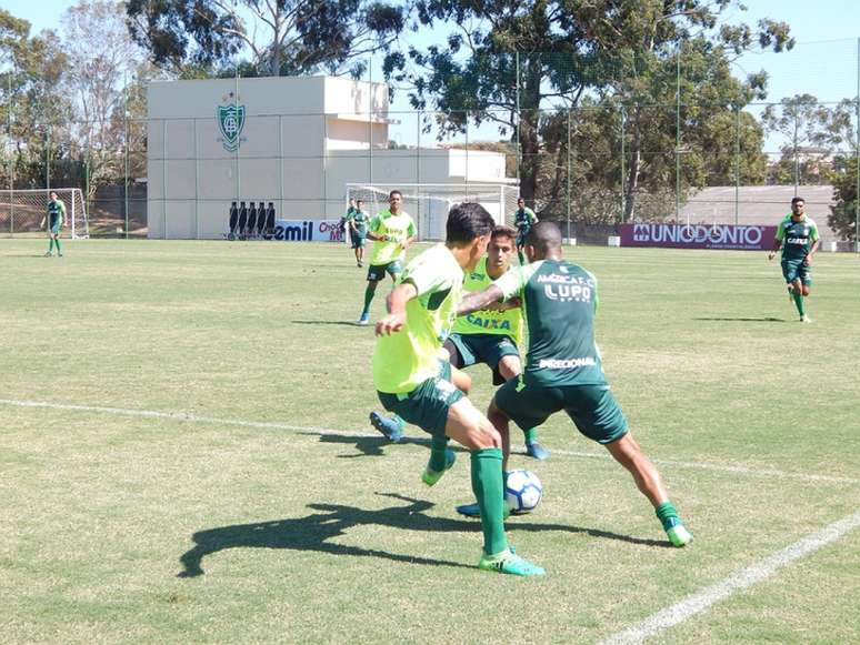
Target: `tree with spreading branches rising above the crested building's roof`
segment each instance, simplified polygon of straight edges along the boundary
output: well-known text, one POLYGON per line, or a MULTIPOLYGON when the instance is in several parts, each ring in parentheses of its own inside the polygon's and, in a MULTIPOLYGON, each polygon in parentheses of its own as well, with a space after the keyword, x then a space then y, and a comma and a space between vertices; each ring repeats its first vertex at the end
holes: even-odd
POLYGON ((243 51, 253 75, 344 65, 360 74, 361 57, 391 44, 406 11, 382 0, 129 0, 127 13, 132 38, 157 65, 194 77, 232 68, 243 51))

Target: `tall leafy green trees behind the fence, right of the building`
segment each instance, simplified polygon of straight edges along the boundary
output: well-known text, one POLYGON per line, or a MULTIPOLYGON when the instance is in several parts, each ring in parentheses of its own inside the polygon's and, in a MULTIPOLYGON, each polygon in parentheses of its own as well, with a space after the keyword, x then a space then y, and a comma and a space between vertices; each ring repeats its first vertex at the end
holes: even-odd
MULTIPOLYGON (((569 179, 567 172, 559 172, 566 165, 559 153, 567 147, 567 129, 559 128, 559 117, 547 110, 602 105, 618 112, 624 105, 623 178, 620 163, 612 161, 620 155, 620 115, 597 112, 574 118, 578 123, 589 122, 582 132, 598 137, 580 148, 596 158, 594 169, 603 170, 592 178, 599 188, 588 190, 618 193, 623 182, 627 216, 631 216, 640 193, 674 189, 674 155, 656 152, 674 149, 679 56, 680 101, 686 105, 681 190, 724 181, 729 174, 733 178, 736 128, 726 125, 736 110, 763 97, 767 77, 759 72, 736 79, 730 57, 757 44, 774 51, 793 47, 784 23, 763 20, 757 31, 720 24, 721 13, 734 4, 730 0, 689 0, 682 7, 661 0, 421 0, 417 6, 421 24, 461 29, 446 42, 422 51, 410 49, 408 58, 389 57, 386 72, 412 83, 414 108, 446 114, 440 138, 461 131, 469 121, 497 123, 519 150, 522 194, 543 214, 556 209, 552 204, 569 179)), ((432 127, 432 120, 426 125, 432 127)), ((742 115, 738 132, 743 150, 740 174, 760 182, 761 130, 742 115)), ((573 133, 574 141, 579 133, 573 133)))

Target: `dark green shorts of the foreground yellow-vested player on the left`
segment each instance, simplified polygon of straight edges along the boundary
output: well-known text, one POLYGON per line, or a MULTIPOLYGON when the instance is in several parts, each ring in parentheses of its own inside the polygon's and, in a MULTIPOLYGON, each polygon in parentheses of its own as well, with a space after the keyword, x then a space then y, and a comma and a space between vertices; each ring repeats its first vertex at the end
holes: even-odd
POLYGON ((382 406, 430 434, 444 436, 448 410, 463 397, 451 382, 451 364, 439 361, 439 374, 408 394, 377 392, 382 406))

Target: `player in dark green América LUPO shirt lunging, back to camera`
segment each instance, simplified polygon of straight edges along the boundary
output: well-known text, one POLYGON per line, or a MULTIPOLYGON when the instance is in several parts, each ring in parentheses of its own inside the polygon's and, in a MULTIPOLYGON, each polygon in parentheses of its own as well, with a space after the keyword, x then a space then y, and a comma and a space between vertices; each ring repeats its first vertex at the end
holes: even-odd
POLYGON ((630 472, 671 543, 689 544, 692 535, 669 501, 660 473, 633 441, 603 374, 594 343, 597 279, 562 259, 561 231, 553 222, 534 224, 524 251, 529 264, 468 294, 458 310, 468 314, 512 298, 522 303, 529 330, 526 369, 498 390, 490 403, 490 421, 507 445, 509 420, 520 427, 534 427, 563 410, 579 432, 604 445, 630 472))

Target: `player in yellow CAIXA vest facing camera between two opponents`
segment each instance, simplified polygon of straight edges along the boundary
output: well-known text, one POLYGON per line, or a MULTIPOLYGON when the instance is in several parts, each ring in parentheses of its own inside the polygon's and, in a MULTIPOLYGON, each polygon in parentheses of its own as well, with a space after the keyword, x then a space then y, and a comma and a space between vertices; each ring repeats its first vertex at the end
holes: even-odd
MULTIPOLYGON (((467 273, 463 289, 481 291, 498 280, 511 266, 517 231, 510 226, 496 226, 474 271, 467 273)), ((492 370, 493 385, 501 385, 520 375, 519 344, 522 342, 522 310, 520 308, 484 310, 458 318, 451 335, 442 345, 454 367, 462 369, 486 363, 492 370)), ((526 454, 538 460, 549 457, 549 451, 538 442, 538 430, 524 431, 526 454)))

